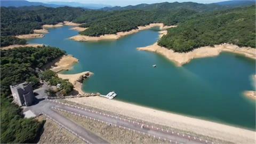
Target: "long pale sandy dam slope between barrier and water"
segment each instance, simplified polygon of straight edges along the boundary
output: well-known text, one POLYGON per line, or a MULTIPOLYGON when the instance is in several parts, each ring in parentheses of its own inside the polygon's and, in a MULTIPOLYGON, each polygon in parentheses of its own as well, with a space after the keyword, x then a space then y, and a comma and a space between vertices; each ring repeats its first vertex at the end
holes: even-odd
POLYGON ((167 125, 176 129, 202 135, 209 135, 209 137, 225 141, 235 143, 255 143, 255 132, 238 127, 167 113, 161 110, 101 97, 72 98, 68 100, 81 103, 86 106, 111 111, 116 114, 142 119, 143 121, 151 123, 167 125))

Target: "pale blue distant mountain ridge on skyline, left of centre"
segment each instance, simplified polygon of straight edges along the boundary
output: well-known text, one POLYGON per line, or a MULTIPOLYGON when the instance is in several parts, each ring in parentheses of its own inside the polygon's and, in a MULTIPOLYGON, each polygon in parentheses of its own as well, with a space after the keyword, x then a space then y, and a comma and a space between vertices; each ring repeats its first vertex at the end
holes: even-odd
POLYGON ((111 7, 110 5, 105 4, 83 4, 76 2, 48 2, 47 4, 65 5, 71 7, 84 7, 86 9, 101 9, 103 7, 111 7))

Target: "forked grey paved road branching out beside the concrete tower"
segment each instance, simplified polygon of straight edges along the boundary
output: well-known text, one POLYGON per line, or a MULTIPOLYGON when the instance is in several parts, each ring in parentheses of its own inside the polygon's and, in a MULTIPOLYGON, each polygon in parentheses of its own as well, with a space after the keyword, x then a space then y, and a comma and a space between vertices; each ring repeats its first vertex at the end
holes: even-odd
POLYGON ((43 99, 44 89, 37 90, 37 93, 39 93, 39 95, 37 96, 38 100, 37 100, 36 104, 33 106, 30 106, 30 107, 26 107, 25 111, 31 110, 36 115, 44 113, 47 116, 50 116, 51 118, 55 119, 55 121, 59 122, 63 126, 67 127, 69 130, 75 132, 76 134, 78 134, 79 136, 81 136, 82 138, 87 140, 89 143, 108 143, 108 142, 106 140, 103 140, 102 138, 100 138, 98 135, 95 135, 92 132, 79 126, 78 124, 70 121, 65 116, 60 115, 59 113, 54 111, 52 108, 59 108, 62 110, 69 111, 70 113, 72 112, 72 113, 84 115, 87 117, 92 117, 92 118, 95 118, 97 120, 100 120, 100 121, 103 121, 106 123, 111 123, 113 125, 125 127, 126 129, 129 129, 132 131, 134 130, 134 131, 137 131, 140 133, 150 134, 151 136, 155 135, 156 138, 161 137, 161 139, 166 139, 167 141, 171 140, 174 143, 175 142, 177 142, 177 143, 205 143, 205 142, 201 142, 198 140, 194 140, 192 138, 188 139, 188 138, 182 137, 181 135, 175 135, 175 134, 167 133, 167 132, 164 132, 161 130, 152 129, 151 127, 145 127, 145 126, 141 127, 141 125, 138 125, 136 123, 124 121, 123 119, 118 119, 118 118, 111 117, 108 115, 102 115, 99 112, 95 113, 95 111, 92 112, 89 110, 84 110, 81 108, 79 109, 77 107, 76 108, 70 107, 70 106, 62 105, 61 103, 44 100, 43 99))

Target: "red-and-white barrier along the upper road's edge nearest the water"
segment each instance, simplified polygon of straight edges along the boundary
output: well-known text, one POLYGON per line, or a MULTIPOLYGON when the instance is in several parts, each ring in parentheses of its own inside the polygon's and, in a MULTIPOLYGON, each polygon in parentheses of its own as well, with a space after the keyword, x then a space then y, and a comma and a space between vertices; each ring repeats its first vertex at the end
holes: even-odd
MULTIPOLYGON (((157 130, 157 131, 162 131, 162 132, 165 132, 165 133, 169 133, 169 134, 171 134, 171 135, 176 135, 176 136, 181 137, 181 138, 186 138, 186 139, 188 139, 188 140, 194 140, 194 141, 198 141, 198 142, 202 142, 202 143, 211 143, 211 144, 214 144, 214 142, 212 142, 212 141, 203 140, 203 139, 201 139, 201 138, 197 138, 197 137, 195 137, 195 136, 188 135, 188 134, 185 134, 185 133, 180 133, 180 132, 173 131, 173 130, 162 129, 162 128, 159 128, 159 127, 156 127, 156 126, 153 126, 153 125, 147 125, 147 124, 143 124, 143 123, 131 121, 131 120, 129 120, 129 119, 125 119, 125 118, 121 118, 121 117, 117 117, 117 116, 113 116, 113 115, 101 113, 101 112, 99 112, 99 111, 90 110, 90 109, 86 109, 86 108, 82 108, 82 107, 70 105, 70 104, 68 104, 68 103, 60 102, 60 101, 57 101, 57 100, 49 100, 49 101, 56 102, 56 103, 59 103, 60 105, 65 105, 65 106, 68 106, 68 107, 73 107, 73 108, 77 108, 77 109, 81 109, 81 110, 86 110, 86 111, 89 111, 89 112, 91 112, 91 113, 95 113, 95 114, 99 114, 99 115, 103 115, 103 116, 108 116, 108 117, 111 117, 111 118, 120 119, 120 120, 122 120, 122 121, 126 121, 126 122, 129 122, 129 123, 133 123, 133 124, 137 124, 137 125, 143 125, 143 126, 147 127, 148 129, 153 129, 153 130, 157 130)), ((217 144, 219 144, 219 143, 217 143, 217 144)))

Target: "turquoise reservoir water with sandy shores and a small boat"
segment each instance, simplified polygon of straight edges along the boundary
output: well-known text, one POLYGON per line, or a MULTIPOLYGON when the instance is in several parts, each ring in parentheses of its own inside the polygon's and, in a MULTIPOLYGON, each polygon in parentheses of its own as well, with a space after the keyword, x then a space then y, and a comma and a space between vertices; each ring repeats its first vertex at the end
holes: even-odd
POLYGON ((254 130, 255 102, 242 94, 254 90, 250 77, 255 74, 254 60, 221 53, 176 67, 161 55, 136 50, 155 43, 157 29, 117 41, 76 42, 68 39, 77 35, 69 28, 51 29, 44 38, 28 42, 60 47, 79 59, 65 74, 92 71, 84 91, 114 90, 117 100, 254 130))

